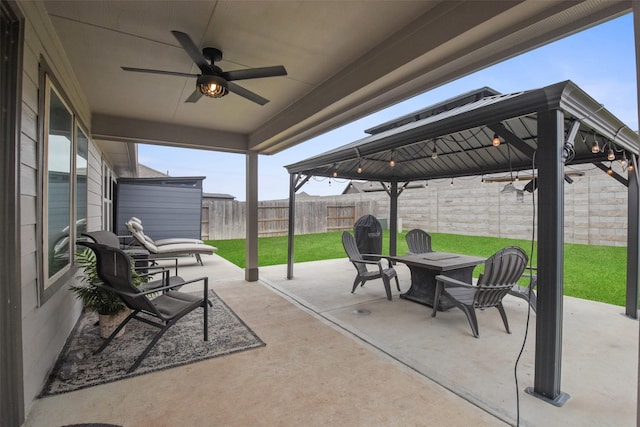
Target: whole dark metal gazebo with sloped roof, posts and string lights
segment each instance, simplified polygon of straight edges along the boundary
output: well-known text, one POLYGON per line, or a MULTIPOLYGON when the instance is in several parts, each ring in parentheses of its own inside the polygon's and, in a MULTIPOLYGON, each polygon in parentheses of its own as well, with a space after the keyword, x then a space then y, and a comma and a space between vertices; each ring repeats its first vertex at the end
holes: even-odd
POLYGON ((287 277, 293 277, 295 194, 311 177, 378 181, 391 199, 396 254, 398 196, 417 180, 533 170, 538 191, 538 309, 531 394, 557 406, 561 392, 565 165, 591 163, 628 188, 626 315, 637 318, 638 134, 571 81, 499 94, 460 95, 366 131, 363 139, 286 166, 290 174, 287 277), (437 161, 436 161, 437 159, 437 161), (623 174, 611 164, 620 162, 623 174))

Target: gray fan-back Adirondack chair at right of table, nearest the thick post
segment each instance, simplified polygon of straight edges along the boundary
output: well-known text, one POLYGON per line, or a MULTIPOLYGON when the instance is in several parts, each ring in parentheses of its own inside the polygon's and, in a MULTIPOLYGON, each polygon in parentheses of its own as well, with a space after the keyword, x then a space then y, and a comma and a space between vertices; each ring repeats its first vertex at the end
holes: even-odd
POLYGON ((436 316, 440 296, 446 295, 467 316, 474 337, 478 338, 479 336, 475 310, 490 307, 498 309, 507 333, 511 333, 507 314, 502 306, 502 299, 522 276, 527 266, 527 259, 527 254, 516 246, 499 250, 485 261, 484 273, 478 278, 477 285, 445 275, 437 275, 431 316, 436 316))

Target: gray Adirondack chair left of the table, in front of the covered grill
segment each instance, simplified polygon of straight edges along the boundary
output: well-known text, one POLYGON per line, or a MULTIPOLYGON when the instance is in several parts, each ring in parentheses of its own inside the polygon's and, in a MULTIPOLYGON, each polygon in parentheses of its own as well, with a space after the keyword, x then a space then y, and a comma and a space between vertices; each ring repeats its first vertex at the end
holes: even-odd
POLYGON ((351 261, 357 271, 351 293, 355 292, 358 285, 364 286, 364 283, 367 280, 382 279, 382 282, 384 283, 384 289, 387 292, 387 299, 391 301, 392 277, 396 279, 396 287, 398 288, 398 291, 400 290, 398 276, 396 274, 396 270, 391 265, 391 260, 387 258, 389 266, 387 268, 383 268, 382 258, 385 258, 384 256, 377 254, 361 254, 358 250, 358 245, 356 243, 355 237, 348 231, 342 233, 342 246, 344 246, 344 250, 349 257, 349 261, 351 261), (369 259, 365 259, 364 257, 369 257, 369 259), (372 259, 374 257, 377 260, 372 259), (369 270, 367 268, 367 266, 369 265, 375 266, 374 269, 369 270))

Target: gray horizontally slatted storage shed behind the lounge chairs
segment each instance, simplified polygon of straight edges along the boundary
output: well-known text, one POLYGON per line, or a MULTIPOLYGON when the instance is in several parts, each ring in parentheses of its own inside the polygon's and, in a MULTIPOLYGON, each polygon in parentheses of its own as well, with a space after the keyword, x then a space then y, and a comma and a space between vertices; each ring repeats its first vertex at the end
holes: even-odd
POLYGON ((206 177, 120 178, 116 195, 116 233, 128 235, 124 223, 142 220, 154 240, 200 238, 202 180, 206 177))

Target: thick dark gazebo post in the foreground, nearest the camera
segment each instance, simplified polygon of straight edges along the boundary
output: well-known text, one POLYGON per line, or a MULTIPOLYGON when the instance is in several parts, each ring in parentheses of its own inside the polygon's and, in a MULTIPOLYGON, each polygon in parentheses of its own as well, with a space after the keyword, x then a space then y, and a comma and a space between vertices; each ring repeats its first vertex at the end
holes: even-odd
POLYGON ((564 271, 564 114, 538 112, 538 307, 532 394, 555 406, 569 395, 560 391, 564 271))

